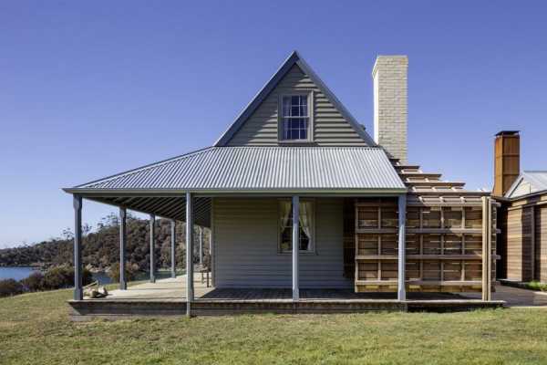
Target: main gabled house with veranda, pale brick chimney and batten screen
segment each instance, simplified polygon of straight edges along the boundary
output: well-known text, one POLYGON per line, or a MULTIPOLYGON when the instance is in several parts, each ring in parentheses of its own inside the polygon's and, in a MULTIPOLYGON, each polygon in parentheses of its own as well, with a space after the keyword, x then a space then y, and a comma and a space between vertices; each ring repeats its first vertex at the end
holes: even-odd
MULTIPOLYGON (((408 163, 407 75, 407 57, 377 57, 372 138, 294 52, 212 147, 65 189, 75 200, 76 266, 85 198, 119 206, 122 217, 132 209, 185 222, 186 252, 192 224, 210 228, 213 292, 232 290, 222 301, 232 310, 437 302, 425 292, 460 307, 491 303, 497 203, 408 163), (256 293, 272 300, 253 304, 256 293)), ((123 228, 120 237, 123 266, 123 228)), ((189 255, 184 308, 220 310, 211 293, 195 295, 192 264, 189 255)), ((77 273, 72 305, 83 302, 77 273)))

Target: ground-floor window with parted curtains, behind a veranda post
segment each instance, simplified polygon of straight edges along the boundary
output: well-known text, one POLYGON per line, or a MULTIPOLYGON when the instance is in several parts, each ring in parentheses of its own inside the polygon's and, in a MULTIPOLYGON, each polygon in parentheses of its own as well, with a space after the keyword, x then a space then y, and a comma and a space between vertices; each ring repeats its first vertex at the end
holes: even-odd
MULTIPOLYGON (((293 203, 279 202, 279 251, 293 251, 293 203)), ((298 245, 301 252, 314 251, 314 202, 300 202, 300 232, 298 245)))

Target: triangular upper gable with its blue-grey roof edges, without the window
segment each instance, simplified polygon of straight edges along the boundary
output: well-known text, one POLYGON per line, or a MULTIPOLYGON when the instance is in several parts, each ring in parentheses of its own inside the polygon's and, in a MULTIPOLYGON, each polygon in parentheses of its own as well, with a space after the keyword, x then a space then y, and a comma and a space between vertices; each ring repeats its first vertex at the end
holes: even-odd
POLYGON ((279 99, 310 95, 311 142, 316 146, 376 146, 325 83, 294 52, 232 123, 215 146, 279 146, 279 99))

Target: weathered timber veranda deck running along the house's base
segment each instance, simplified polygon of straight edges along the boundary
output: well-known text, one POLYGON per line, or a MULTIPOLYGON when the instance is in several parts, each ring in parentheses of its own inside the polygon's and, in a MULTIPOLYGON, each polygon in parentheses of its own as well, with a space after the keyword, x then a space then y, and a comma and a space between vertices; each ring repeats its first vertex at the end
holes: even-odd
MULTIPOLYGON (((113 290, 108 297, 70 300, 71 317, 124 318, 129 316, 186 315, 185 277, 139 284, 128 290, 113 290)), ((485 302, 461 293, 408 293, 397 300, 395 293, 355 293, 352 289, 301 289, 301 299, 292 300, 291 289, 212 288, 194 278, 192 315, 232 315, 249 313, 360 313, 369 311, 461 311, 500 308, 501 300, 485 302)))

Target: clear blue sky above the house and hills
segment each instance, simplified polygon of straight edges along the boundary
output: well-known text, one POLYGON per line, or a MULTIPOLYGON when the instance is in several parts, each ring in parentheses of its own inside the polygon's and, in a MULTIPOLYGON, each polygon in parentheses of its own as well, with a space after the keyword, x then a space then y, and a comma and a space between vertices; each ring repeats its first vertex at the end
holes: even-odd
POLYGON ((375 57, 408 55, 424 171, 490 188, 502 129, 547 170, 546 19, 544 1, 2 1, 0 247, 72 226, 61 187, 211 145, 293 49, 370 134, 375 57))

